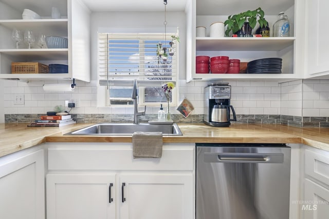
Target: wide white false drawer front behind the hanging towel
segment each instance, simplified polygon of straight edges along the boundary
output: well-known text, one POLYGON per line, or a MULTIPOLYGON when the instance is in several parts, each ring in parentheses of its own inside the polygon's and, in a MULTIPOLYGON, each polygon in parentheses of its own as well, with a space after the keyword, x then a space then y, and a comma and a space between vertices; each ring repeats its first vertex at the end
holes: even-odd
POLYGON ((48 144, 48 170, 193 170, 194 144, 163 145, 161 158, 133 158, 130 143, 48 144))

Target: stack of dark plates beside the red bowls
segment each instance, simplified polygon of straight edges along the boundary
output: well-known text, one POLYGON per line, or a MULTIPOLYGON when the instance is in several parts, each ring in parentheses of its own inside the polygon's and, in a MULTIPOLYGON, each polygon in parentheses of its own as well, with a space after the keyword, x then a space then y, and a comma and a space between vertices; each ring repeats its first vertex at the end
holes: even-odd
POLYGON ((281 74, 282 58, 261 58, 247 65, 249 74, 281 74))

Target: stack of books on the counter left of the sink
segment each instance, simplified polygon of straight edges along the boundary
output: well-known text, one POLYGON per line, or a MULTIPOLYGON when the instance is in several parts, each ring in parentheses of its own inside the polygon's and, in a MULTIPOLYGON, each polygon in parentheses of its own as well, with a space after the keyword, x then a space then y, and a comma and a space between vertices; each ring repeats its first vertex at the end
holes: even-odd
POLYGON ((40 120, 35 120, 34 123, 27 125, 28 127, 60 127, 74 124, 71 115, 42 115, 40 120))

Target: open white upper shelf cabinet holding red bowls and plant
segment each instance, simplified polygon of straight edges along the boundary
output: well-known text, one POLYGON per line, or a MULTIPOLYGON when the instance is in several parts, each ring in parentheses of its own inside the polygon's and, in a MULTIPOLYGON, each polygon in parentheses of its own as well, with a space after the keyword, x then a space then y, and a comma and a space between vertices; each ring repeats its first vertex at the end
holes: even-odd
POLYGON ((187 6, 187 81, 203 79, 291 79, 303 77, 304 0, 285 1, 213 1, 192 0, 187 6), (205 26, 209 36, 210 25, 225 22, 228 15, 261 7, 270 30, 284 11, 290 21, 290 37, 196 37, 195 28, 205 26), (189 39, 191 38, 191 40, 189 39), (250 62, 259 58, 281 57, 282 74, 200 74, 195 72, 195 56, 225 55, 250 62))

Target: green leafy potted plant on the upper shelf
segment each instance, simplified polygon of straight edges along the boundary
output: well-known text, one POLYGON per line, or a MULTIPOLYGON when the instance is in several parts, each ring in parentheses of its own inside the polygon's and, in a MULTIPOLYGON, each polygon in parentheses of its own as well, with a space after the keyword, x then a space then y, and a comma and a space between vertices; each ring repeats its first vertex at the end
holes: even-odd
POLYGON ((224 25, 227 26, 225 35, 229 36, 230 31, 236 33, 240 30, 242 30, 243 35, 251 34, 251 30, 257 23, 259 23, 261 28, 265 28, 268 25, 268 22, 264 18, 264 11, 261 8, 230 15, 224 22, 224 25))

